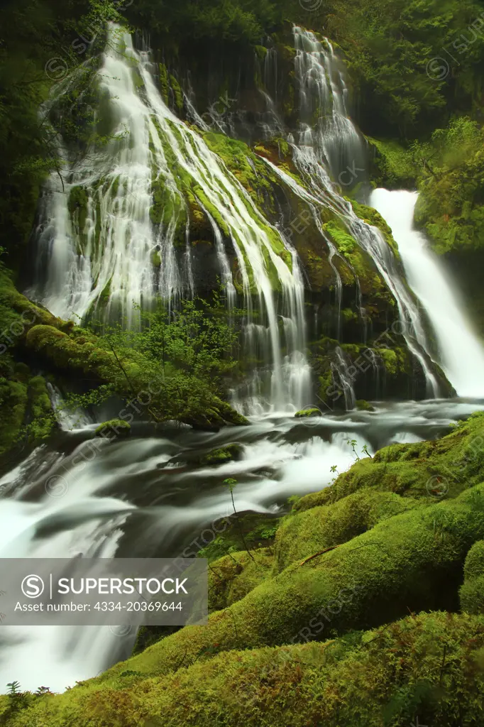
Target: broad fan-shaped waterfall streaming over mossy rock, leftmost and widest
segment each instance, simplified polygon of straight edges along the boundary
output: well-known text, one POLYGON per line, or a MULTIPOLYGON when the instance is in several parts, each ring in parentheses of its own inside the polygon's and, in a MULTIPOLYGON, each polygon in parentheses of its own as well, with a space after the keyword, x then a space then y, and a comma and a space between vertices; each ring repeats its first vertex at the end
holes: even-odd
POLYGON ((299 408, 309 376, 297 255, 203 136, 170 111, 150 54, 114 25, 110 35, 96 83, 112 132, 70 165, 65 193, 58 177, 49 180, 38 235, 49 274, 30 294, 57 316, 96 312, 137 326, 133 303, 146 308, 161 297, 176 305, 195 293, 190 225, 206 220, 229 309, 235 288, 243 294, 247 342, 259 326, 259 347, 244 351, 262 358, 257 409, 299 408))

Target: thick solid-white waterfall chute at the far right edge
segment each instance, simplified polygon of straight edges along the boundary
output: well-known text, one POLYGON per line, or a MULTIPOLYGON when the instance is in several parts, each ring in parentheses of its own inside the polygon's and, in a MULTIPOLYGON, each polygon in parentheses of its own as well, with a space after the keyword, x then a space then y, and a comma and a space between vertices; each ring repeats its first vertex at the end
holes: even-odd
POLYGON ((437 362, 459 396, 484 396, 484 348, 472 330, 451 279, 413 228, 416 192, 374 190, 371 204, 392 228, 408 284, 427 311, 437 338, 437 362))

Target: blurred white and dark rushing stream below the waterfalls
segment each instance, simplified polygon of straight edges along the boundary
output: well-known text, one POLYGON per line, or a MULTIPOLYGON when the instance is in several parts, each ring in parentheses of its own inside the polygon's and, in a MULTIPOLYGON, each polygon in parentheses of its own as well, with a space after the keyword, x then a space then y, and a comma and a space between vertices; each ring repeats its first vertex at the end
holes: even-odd
MULTIPOLYGON (((456 401, 376 403, 376 411, 325 414, 301 422, 259 417, 219 433, 166 428, 94 450, 94 425, 65 431, 0 481, 0 557, 175 557, 195 552, 221 528, 232 504, 222 481, 236 478, 235 507, 273 517, 286 499, 331 483, 363 446, 435 438, 479 409, 456 401), (210 449, 238 442, 238 462, 203 466, 210 449), (94 455, 93 455, 94 451, 94 455), (84 457, 80 454, 84 452, 84 457), (77 464, 73 464, 73 460, 77 464)), ((129 656, 134 633, 116 627, 2 627, 0 685, 62 691, 129 656)))

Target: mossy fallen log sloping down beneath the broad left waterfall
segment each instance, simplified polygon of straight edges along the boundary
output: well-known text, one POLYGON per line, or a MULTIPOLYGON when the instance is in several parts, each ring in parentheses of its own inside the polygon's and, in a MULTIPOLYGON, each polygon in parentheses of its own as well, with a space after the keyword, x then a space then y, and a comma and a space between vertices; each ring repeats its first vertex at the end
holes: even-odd
MULTIPOLYGON (((113 393, 124 398, 132 398, 135 390, 140 393, 143 401, 150 401, 149 406, 143 406, 148 408, 148 413, 155 421, 177 419, 190 426, 206 429, 217 429, 225 424, 248 423, 245 417, 222 401, 198 377, 167 367, 169 376, 160 384, 159 371, 153 370, 153 366, 150 366, 142 354, 126 349, 115 355, 105 345, 102 337, 75 326, 73 321, 62 321, 61 318, 52 316, 47 309, 17 292, 11 278, 5 273, 0 273, 0 322, 11 334, 4 345, 5 349, 9 348, 11 355, 4 350, 0 351, 4 353, 4 360, 0 362, 0 374, 7 377, 4 383, 9 388, 9 392, 4 388, 3 395, 6 397, 5 401, 10 402, 5 426, 0 427, 5 438, 3 445, 0 442, 0 449, 3 446, 4 451, 7 451, 9 444, 12 445, 19 431, 15 423, 17 419, 14 422, 12 416, 15 414, 22 421, 25 419, 25 407, 20 400, 25 397, 21 387, 27 381, 22 382, 13 376, 13 356, 19 354, 33 358, 36 365, 41 364, 56 374, 76 378, 81 376, 92 387, 111 386, 113 393), (154 390, 158 393, 153 393, 154 390), (22 415, 19 406, 23 411, 22 415)), ((44 414, 40 416, 40 409, 48 409, 47 390, 39 389, 39 386, 39 381, 33 382, 32 401, 35 410, 31 419, 36 420, 37 427, 40 426, 40 419, 44 420, 42 426, 49 427, 48 417, 44 414)), ((37 435, 44 436, 40 432, 37 435)))

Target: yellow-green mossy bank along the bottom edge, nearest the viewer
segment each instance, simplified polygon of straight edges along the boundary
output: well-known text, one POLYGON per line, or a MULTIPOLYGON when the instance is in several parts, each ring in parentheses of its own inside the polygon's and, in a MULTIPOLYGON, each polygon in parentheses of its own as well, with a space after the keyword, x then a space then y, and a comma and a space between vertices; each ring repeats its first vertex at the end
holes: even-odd
POLYGON ((172 675, 124 670, 65 694, 2 696, 7 727, 441 727, 482 723, 484 622, 444 613, 326 643, 201 654, 172 675), (215 656, 213 655, 215 654, 215 656))

